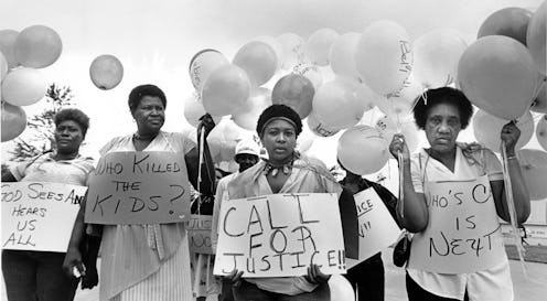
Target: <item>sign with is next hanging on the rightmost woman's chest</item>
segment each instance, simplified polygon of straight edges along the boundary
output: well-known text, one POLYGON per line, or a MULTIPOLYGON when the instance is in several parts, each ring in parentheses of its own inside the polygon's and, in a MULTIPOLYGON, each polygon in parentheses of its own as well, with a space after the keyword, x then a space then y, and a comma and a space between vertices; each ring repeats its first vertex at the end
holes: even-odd
POLYGON ((416 234, 409 267, 442 273, 489 269, 505 249, 486 176, 427 183, 429 224, 416 234))

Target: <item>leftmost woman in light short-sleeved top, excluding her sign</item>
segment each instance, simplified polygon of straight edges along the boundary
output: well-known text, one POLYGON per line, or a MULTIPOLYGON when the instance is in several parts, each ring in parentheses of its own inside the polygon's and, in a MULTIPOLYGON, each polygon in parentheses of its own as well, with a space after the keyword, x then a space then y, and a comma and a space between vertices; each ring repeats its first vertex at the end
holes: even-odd
MULTIPOLYGON (((82 157, 79 146, 89 127, 89 118, 83 111, 69 108, 58 111, 54 121, 54 150, 11 168, 2 174, 2 182, 87 185, 87 178, 94 169, 93 159, 82 157)), ((54 233, 52 229, 52 235, 54 233)), ((78 244, 77 247, 81 248, 82 245, 78 244)), ((79 279, 67 277, 63 272, 64 257, 64 252, 3 249, 2 272, 8 300, 73 300, 79 279)), ((94 275, 83 278, 82 288, 90 289, 96 284, 94 275)))

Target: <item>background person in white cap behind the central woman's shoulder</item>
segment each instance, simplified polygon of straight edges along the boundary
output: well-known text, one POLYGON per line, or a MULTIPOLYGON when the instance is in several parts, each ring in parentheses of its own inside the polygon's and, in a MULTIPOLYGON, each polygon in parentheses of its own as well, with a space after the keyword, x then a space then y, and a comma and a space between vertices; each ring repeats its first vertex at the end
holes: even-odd
MULTIPOLYGON (((260 146, 254 140, 242 140, 236 144, 236 154, 234 160, 239 164, 239 170, 235 173, 224 176, 218 181, 216 185, 215 205, 213 208, 213 225, 211 227, 211 241, 213 244, 213 250, 216 250, 216 244, 218 241, 218 214, 221 213, 221 202, 225 196, 226 189, 229 181, 236 178, 239 173, 246 171, 247 169, 254 166, 258 163, 260 159, 260 146)), ((232 283, 224 279, 222 293, 218 297, 218 301, 232 301, 234 300, 234 294, 232 293, 232 283)))

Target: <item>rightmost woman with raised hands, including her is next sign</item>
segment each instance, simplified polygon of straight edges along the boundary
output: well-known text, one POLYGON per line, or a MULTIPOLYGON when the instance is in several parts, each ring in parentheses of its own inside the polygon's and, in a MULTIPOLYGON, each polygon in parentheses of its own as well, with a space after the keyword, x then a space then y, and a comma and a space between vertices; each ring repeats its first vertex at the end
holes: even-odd
POLYGON ((409 300, 514 299, 497 217, 511 221, 511 204, 518 224, 529 215, 515 155, 521 131, 513 121, 501 131, 513 192, 506 195, 511 190, 494 153, 455 142, 472 111, 460 90, 430 89, 414 109, 430 148, 410 158, 401 135, 394 136, 389 147, 403 161, 403 224, 416 233, 407 265, 409 300))

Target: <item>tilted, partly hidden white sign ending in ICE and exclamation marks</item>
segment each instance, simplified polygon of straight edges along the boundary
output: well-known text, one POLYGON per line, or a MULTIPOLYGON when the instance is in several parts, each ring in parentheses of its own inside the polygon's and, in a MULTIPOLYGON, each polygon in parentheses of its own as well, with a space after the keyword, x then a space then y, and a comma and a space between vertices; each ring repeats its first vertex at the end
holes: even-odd
POLYGON ((393 245, 400 235, 397 223, 387 211, 374 189, 364 190, 354 195, 357 206, 360 257, 347 259, 352 267, 393 245))

